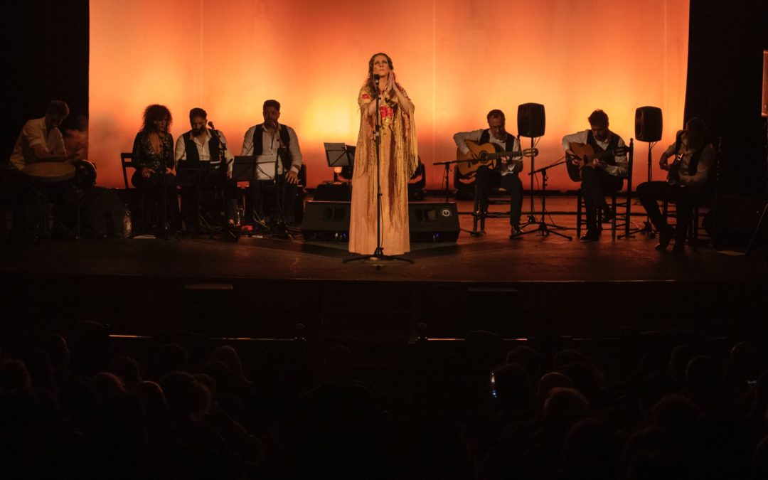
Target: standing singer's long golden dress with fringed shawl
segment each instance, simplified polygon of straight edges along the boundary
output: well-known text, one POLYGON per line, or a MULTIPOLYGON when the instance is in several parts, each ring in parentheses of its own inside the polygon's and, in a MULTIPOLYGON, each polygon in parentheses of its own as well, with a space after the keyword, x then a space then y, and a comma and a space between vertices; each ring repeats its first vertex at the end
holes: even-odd
MULTIPOLYGON (((398 85, 400 91, 406 91, 398 85)), ((407 96, 407 95, 406 95, 407 96)), ((352 179, 352 210, 349 219, 349 251, 371 254, 376 250, 376 143, 372 135, 376 118, 366 112, 373 98, 366 85, 357 98, 360 131, 357 136, 352 179)), ((416 169, 419 152, 413 115, 400 108, 395 94, 382 94, 379 113, 382 124, 379 147, 381 184, 381 240, 385 255, 410 250, 408 228, 408 179, 416 169)))

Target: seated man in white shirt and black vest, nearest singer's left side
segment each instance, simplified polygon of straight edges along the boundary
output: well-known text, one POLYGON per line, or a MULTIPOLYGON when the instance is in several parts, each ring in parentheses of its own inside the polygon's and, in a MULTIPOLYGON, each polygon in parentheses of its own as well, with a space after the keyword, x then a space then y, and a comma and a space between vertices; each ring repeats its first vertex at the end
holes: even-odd
POLYGON ((264 187, 276 184, 283 220, 292 224, 302 162, 299 139, 293 128, 278 123, 280 102, 265 101, 262 113, 264 122, 250 127, 243 138, 241 155, 255 155, 257 162, 255 178, 250 181, 252 214, 247 217, 257 223, 263 220, 264 187))

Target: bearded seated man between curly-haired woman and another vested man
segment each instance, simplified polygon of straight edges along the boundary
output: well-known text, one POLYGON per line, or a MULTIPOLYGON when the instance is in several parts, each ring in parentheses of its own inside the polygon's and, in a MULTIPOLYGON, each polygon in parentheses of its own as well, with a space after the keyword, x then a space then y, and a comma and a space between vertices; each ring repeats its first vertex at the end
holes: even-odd
MULTIPOLYGON (((232 177, 232 152, 227 149, 227 137, 207 128, 208 114, 202 108, 190 110, 190 131, 176 140, 176 173, 181 187, 181 215, 190 232, 200 230, 201 194, 215 194, 223 190, 224 175, 232 177), (222 159, 226 166, 222 167, 222 159), (221 169, 226 168, 225 172, 221 169), (202 191, 201 191, 202 190, 202 191)), ((227 198, 233 197, 227 192, 227 198)), ((230 202, 226 203, 227 218, 232 219, 230 202)))

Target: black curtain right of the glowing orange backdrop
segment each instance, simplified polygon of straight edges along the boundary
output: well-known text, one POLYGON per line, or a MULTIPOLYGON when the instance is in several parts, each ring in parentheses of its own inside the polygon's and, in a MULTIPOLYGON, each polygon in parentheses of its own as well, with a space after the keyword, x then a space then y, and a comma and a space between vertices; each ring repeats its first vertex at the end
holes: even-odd
POLYGON ((766 194, 766 121, 760 116, 766 25, 768 2, 690 2, 685 118, 703 118, 714 144, 722 141, 725 194, 766 194))

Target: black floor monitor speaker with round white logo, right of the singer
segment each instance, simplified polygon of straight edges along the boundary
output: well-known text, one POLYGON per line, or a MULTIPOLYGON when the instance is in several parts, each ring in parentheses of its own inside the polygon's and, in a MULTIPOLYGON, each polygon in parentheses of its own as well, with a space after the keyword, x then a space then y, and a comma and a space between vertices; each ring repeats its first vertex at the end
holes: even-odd
POLYGON ((408 220, 412 242, 455 242, 458 238, 455 202, 412 202, 408 220))

